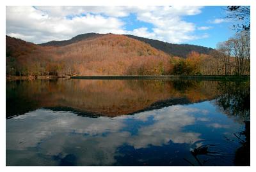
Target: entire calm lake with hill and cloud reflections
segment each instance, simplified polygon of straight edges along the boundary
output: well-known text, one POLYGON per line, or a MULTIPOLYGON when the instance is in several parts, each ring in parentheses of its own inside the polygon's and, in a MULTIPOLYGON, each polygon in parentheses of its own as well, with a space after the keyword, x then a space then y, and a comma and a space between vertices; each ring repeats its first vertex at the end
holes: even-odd
POLYGON ((6 166, 250 166, 250 81, 6 82, 6 166))

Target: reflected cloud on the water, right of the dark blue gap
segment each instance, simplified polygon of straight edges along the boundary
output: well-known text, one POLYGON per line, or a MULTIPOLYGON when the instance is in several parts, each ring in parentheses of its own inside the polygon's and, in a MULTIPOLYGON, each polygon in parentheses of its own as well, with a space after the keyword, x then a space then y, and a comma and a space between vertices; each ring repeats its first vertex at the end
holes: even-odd
POLYGON ((144 116, 154 117, 154 124, 141 127, 138 135, 132 136, 127 143, 134 148, 146 148, 149 145, 161 146, 173 143, 193 144, 201 140, 200 133, 184 132, 183 127, 195 124, 196 118, 189 113, 201 111, 196 108, 184 109, 180 105, 169 106, 161 110, 148 111, 138 114, 134 119, 145 118, 144 116))

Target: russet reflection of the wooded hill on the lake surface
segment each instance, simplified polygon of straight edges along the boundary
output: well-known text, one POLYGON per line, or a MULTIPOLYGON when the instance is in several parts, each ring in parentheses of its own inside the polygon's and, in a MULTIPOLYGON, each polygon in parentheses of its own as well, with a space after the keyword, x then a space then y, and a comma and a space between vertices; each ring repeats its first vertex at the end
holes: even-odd
POLYGON ((35 80, 6 85, 6 117, 37 108, 116 117, 217 96, 217 82, 163 80, 35 80), (181 89, 180 85, 186 85, 181 89), (15 108, 13 108, 15 106, 15 108))

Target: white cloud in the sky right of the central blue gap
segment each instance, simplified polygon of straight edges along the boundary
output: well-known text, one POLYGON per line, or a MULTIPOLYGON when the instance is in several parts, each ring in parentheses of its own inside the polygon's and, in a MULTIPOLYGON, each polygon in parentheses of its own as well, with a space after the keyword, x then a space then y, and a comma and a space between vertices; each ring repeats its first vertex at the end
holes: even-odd
POLYGON ((191 22, 182 20, 182 16, 196 15, 200 13, 200 6, 157 6, 150 11, 141 11, 137 18, 143 22, 153 24, 154 35, 146 38, 159 39, 170 43, 180 43, 198 39, 193 35, 196 26, 191 22))

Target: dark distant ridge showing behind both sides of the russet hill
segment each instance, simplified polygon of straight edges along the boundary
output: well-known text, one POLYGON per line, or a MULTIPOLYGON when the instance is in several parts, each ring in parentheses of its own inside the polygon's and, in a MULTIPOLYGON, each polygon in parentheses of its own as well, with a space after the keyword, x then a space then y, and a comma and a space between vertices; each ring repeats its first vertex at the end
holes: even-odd
MULTIPOLYGON (((39 45, 60 47, 60 46, 70 45, 72 43, 76 43, 78 41, 82 41, 86 39, 99 38, 100 36, 104 36, 104 35, 106 34, 97 34, 92 32, 87 34, 79 34, 76 37, 71 38, 69 40, 65 40, 65 41, 50 41, 50 42, 42 43, 39 45)), ((184 58, 186 58, 189 52, 192 52, 192 51, 198 52, 200 54, 209 54, 209 52, 212 50, 212 48, 202 47, 198 45, 166 43, 166 42, 155 40, 155 39, 142 38, 142 37, 133 36, 129 34, 126 34, 125 36, 148 43, 151 47, 154 47, 158 50, 166 52, 167 54, 184 57, 184 58)))

